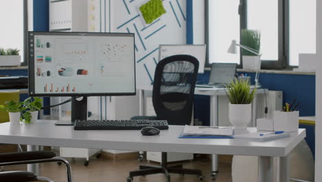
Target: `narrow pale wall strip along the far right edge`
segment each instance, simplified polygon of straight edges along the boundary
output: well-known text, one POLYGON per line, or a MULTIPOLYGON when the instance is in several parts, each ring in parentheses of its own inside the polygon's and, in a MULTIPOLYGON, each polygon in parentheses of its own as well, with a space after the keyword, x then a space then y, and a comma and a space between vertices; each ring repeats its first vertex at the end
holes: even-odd
POLYGON ((315 181, 322 181, 322 1, 316 1, 315 181))

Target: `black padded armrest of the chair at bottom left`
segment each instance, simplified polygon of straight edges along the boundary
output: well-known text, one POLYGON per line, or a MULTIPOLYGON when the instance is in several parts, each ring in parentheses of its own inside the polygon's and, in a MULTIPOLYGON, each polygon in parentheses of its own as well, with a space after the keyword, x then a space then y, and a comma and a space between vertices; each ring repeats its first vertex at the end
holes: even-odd
POLYGON ((56 156, 54 152, 47 152, 47 151, 3 153, 3 154, 0 154, 0 163, 50 159, 50 158, 53 158, 54 156, 56 156))

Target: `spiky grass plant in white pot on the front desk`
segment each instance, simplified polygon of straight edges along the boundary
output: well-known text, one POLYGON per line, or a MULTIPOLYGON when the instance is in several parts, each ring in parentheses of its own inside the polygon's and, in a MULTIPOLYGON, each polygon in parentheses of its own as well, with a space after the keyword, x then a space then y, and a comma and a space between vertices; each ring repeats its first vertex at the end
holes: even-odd
POLYGON ((252 119, 251 103, 256 89, 250 90, 250 82, 244 79, 234 79, 226 86, 229 103, 229 121, 234 129, 246 129, 252 119))

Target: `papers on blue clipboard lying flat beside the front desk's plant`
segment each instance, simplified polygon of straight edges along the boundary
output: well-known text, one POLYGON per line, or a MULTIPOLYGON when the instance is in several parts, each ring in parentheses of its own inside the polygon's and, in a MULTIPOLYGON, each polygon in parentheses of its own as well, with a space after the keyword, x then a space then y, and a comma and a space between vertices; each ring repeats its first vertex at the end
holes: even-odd
POLYGON ((185 125, 180 138, 232 139, 232 127, 185 125))

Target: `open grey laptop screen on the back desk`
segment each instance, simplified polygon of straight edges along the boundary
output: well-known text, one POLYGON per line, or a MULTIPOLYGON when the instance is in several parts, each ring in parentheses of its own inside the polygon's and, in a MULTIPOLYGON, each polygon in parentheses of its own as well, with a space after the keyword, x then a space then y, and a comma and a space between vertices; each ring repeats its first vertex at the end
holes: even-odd
POLYGON ((236 74, 237 64, 235 63, 213 63, 209 84, 231 83, 236 74))

